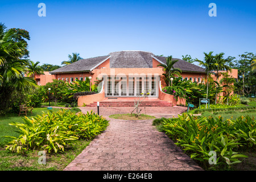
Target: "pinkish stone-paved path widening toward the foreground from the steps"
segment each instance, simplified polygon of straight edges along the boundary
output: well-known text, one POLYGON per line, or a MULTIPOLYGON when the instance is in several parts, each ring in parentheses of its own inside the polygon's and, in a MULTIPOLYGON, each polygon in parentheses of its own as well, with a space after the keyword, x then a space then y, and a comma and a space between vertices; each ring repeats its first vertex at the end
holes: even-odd
MULTIPOLYGON (((86 111, 97 111, 97 107, 80 107, 86 111)), ((108 128, 71 162, 64 171, 164 171, 164 170, 202 170, 189 156, 164 133, 152 126, 152 120, 124 121, 111 119, 107 115, 127 113, 127 107, 101 108, 100 115, 110 120, 108 128)), ((146 113, 172 117, 185 107, 148 108, 146 113), (170 113, 167 113, 172 110, 170 113), (167 113, 167 114, 166 114, 167 113)))

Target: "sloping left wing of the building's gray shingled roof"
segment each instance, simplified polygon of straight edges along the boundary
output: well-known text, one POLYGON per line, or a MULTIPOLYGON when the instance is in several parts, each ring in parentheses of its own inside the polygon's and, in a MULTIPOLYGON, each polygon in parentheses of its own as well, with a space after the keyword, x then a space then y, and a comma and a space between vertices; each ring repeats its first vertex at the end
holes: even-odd
POLYGON ((55 69, 54 71, 50 72, 51 74, 56 73, 67 73, 67 72, 88 72, 91 71, 92 68, 96 67, 102 61, 106 60, 108 56, 99 56, 99 57, 92 57, 89 59, 81 59, 76 61, 75 63, 65 65, 64 67, 55 69))

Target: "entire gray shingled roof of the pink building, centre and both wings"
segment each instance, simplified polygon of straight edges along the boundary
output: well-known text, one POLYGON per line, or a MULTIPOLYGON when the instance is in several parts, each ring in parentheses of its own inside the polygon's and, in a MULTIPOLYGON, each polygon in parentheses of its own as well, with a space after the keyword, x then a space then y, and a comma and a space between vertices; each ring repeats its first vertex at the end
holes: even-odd
MULTIPOLYGON (((166 64, 166 57, 155 56, 151 52, 145 51, 118 51, 109 53, 107 56, 92 57, 82 59, 75 63, 66 65, 50 72, 51 74, 67 73, 67 72, 88 72, 92 71, 98 64, 110 57, 110 68, 152 68, 152 57, 166 64)), ((183 72, 205 72, 195 64, 188 63, 184 60, 177 59, 174 64, 175 68, 180 68, 183 72)), ((160 63, 159 63, 160 64, 160 63)))

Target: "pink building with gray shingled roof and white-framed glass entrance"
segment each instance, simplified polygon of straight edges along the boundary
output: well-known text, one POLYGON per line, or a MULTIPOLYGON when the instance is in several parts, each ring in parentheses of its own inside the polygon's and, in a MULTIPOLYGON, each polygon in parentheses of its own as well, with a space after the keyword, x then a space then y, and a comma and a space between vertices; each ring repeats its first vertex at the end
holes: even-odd
MULTIPOLYGON (((183 79, 201 82, 205 77, 205 70, 197 65, 180 60, 174 67, 180 68, 183 79)), ((73 82, 92 77, 94 81, 103 80, 104 86, 100 93, 79 97, 79 106, 101 101, 104 98, 134 98, 142 92, 150 93, 148 98, 158 98, 174 103, 173 96, 162 92, 166 86, 163 81, 163 68, 159 64, 166 64, 166 57, 155 56, 145 51, 119 51, 106 56, 82 59, 76 63, 66 65, 52 72, 58 80, 73 82)), ((41 81, 42 82, 42 81, 41 81)), ((43 85, 43 82, 41 83, 43 85)), ((180 99, 176 104, 185 104, 180 99)))

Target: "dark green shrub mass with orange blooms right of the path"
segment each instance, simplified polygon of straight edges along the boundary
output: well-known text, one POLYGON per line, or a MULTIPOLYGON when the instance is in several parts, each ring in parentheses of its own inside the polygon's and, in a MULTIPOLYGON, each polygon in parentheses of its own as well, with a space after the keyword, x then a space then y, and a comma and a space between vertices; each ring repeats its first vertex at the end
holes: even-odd
POLYGON ((238 158, 247 157, 238 154, 238 149, 254 148, 256 144, 256 121, 250 117, 224 121, 222 117, 197 118, 183 113, 178 118, 163 119, 162 129, 205 168, 210 167, 213 151, 216 152, 216 166, 230 166, 240 163, 238 158))

